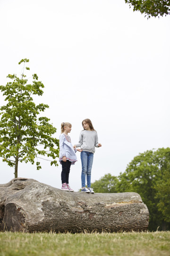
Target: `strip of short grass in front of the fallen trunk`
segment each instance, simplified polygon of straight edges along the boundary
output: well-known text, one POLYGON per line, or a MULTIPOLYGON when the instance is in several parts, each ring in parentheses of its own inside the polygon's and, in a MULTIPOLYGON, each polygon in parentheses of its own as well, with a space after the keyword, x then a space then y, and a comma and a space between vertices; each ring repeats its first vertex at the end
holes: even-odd
POLYGON ((170 231, 131 233, 0 232, 0 256, 170 256, 170 231))

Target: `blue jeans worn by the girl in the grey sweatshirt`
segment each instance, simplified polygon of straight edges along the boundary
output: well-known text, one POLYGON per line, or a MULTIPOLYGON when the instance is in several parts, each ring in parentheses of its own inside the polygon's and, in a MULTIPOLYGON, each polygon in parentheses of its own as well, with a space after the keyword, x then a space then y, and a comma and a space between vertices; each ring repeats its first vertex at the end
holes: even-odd
POLYGON ((87 175, 87 188, 91 187, 91 170, 93 165, 93 153, 82 151, 81 152, 81 162, 82 162, 82 187, 85 187, 85 175, 87 175))

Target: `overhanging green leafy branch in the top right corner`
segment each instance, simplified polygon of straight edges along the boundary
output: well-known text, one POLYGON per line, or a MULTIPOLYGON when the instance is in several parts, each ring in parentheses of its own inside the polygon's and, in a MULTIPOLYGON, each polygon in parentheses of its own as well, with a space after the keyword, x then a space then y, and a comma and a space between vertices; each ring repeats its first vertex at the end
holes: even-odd
POLYGON ((145 17, 160 17, 170 14, 170 0, 125 0, 134 11, 145 13, 145 17))

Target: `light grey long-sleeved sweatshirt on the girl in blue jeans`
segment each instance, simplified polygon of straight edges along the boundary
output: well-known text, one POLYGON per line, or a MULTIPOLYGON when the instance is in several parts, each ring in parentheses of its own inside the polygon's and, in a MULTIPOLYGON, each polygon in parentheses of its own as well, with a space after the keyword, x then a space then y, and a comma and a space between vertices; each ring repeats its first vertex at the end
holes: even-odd
POLYGON ((98 136, 96 131, 86 131, 80 132, 79 143, 76 147, 81 147, 83 151, 91 152, 94 154, 95 146, 98 146, 98 136))

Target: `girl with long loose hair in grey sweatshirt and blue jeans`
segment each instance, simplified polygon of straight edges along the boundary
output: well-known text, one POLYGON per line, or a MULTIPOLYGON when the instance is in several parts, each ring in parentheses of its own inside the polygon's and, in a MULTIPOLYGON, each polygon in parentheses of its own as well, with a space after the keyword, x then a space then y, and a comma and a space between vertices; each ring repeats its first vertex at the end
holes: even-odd
MULTIPOLYGON (((82 192, 94 193, 91 188, 91 170, 93 165, 93 154, 95 147, 101 147, 102 144, 98 143, 97 132, 94 130, 90 119, 85 119, 82 122, 84 130, 80 132, 79 143, 74 145, 74 148, 81 147, 81 162, 82 162, 82 192), (87 188, 85 187, 85 176, 87 178, 87 188)), ((78 149, 77 149, 78 150, 78 149)))

